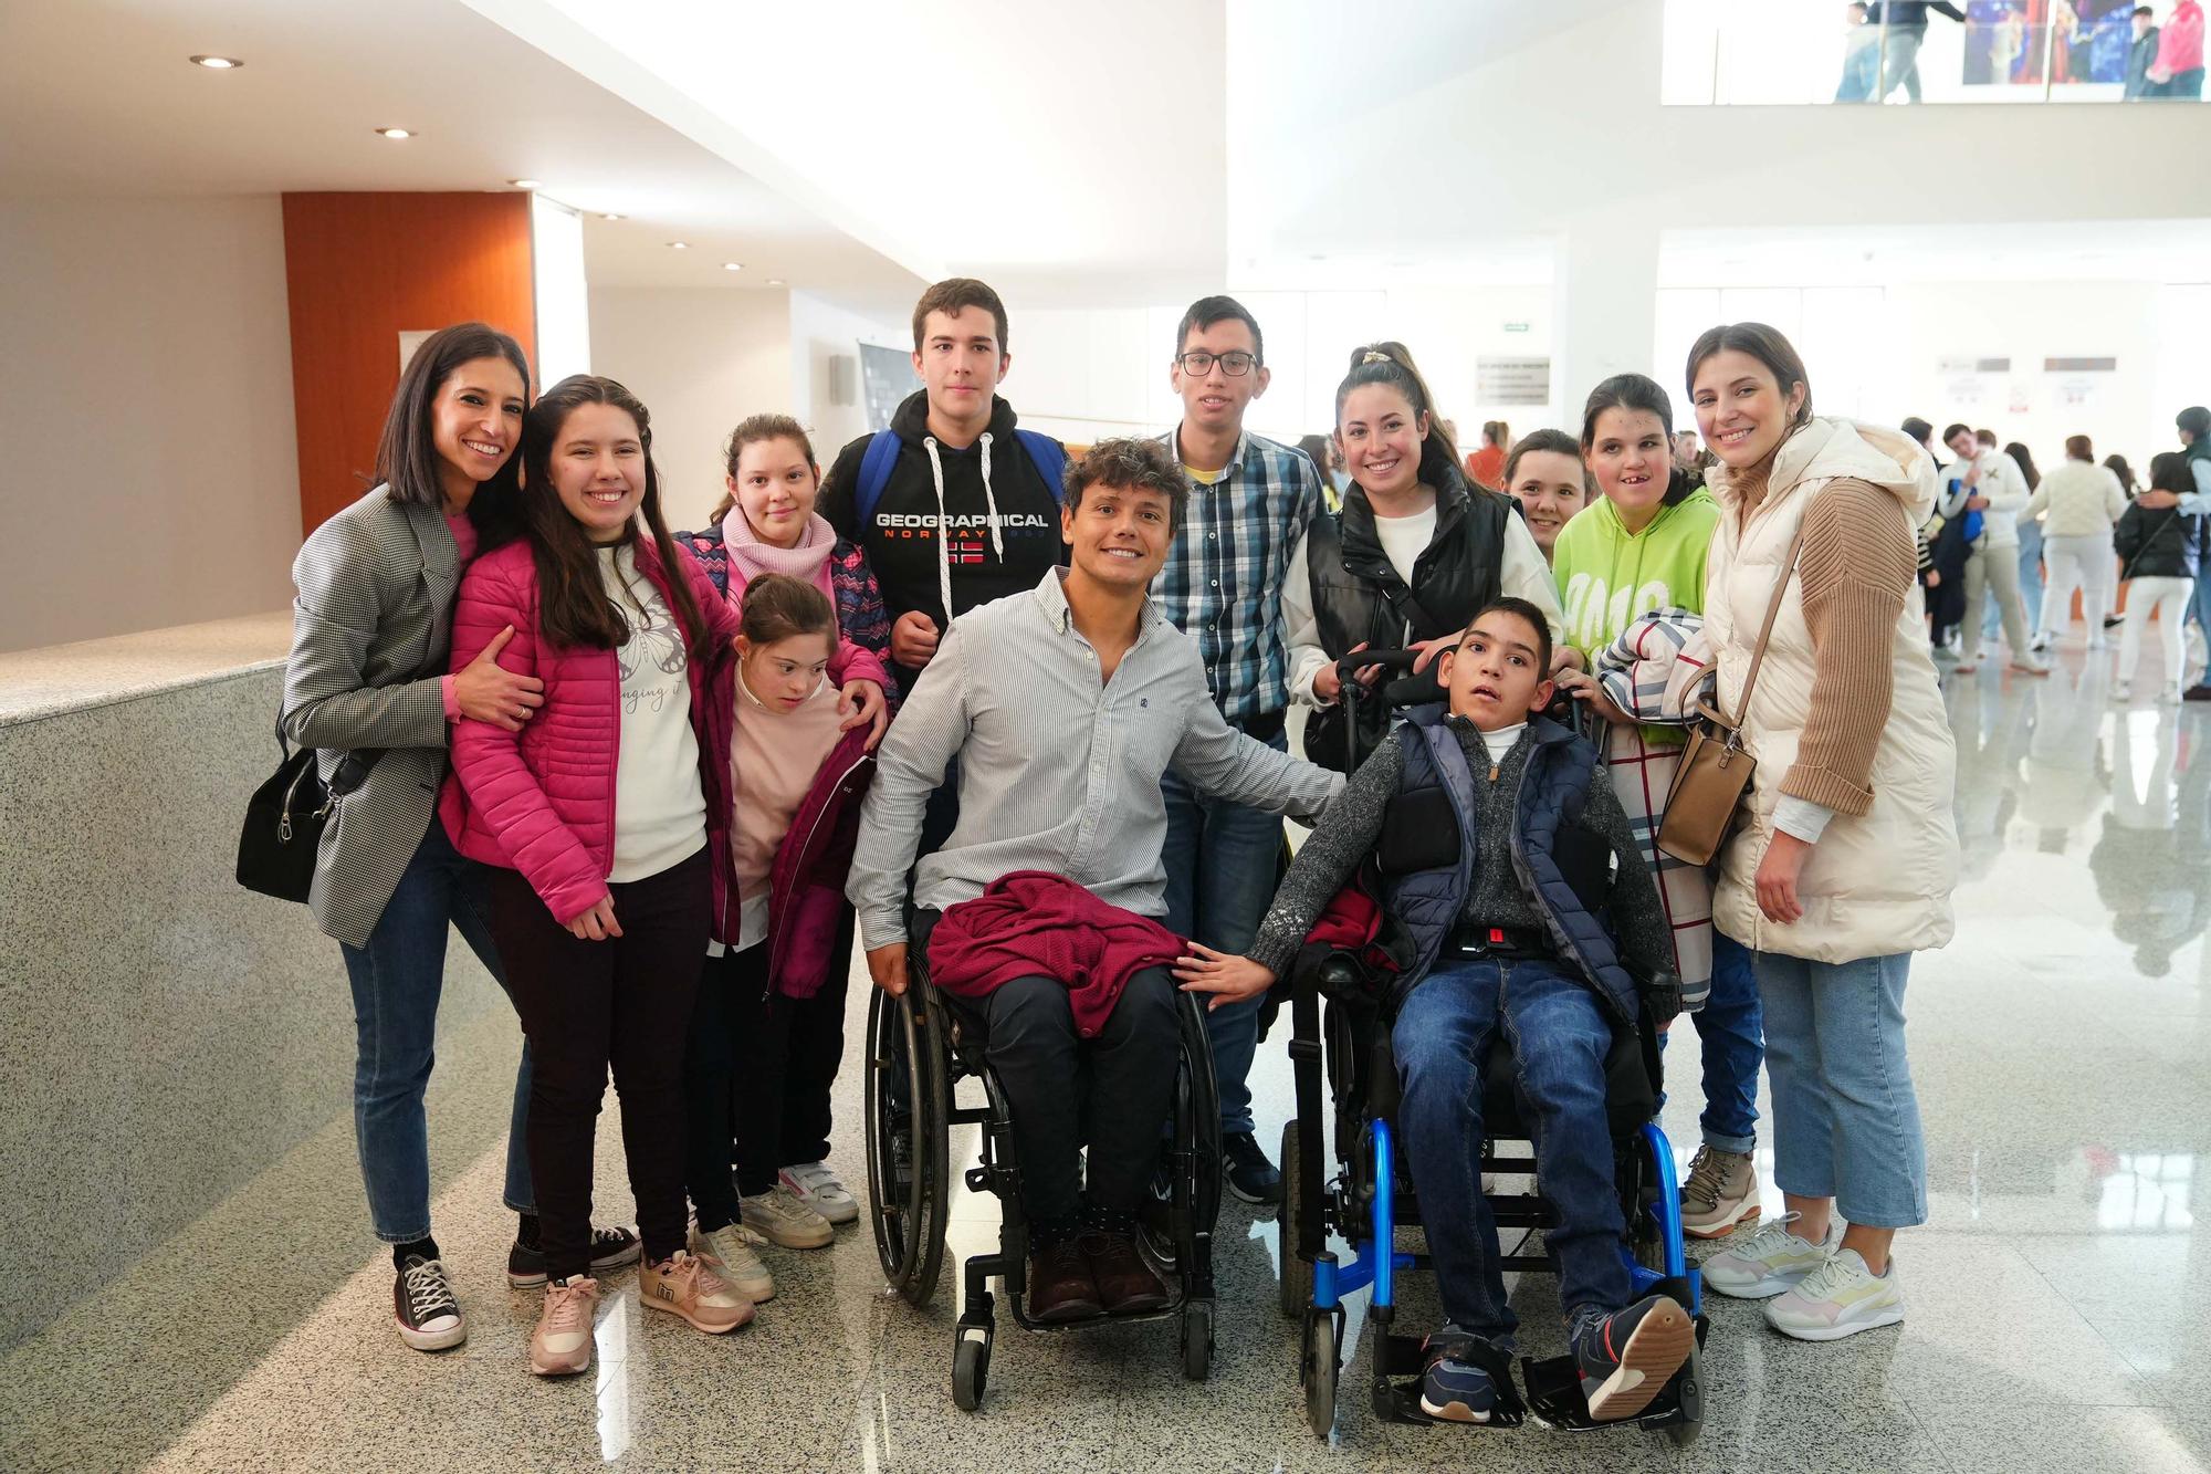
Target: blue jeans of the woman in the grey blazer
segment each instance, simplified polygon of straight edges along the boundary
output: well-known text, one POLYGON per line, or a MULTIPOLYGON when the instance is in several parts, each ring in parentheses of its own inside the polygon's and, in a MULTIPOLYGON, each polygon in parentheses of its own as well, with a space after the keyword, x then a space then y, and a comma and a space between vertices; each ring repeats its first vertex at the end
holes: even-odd
MULTIPOLYGON (((385 1244, 429 1237, 429 1122, 422 1091, 438 1042, 438 996, 444 992, 447 925, 506 987, 491 945, 489 872, 453 848, 436 819, 400 874, 391 903, 376 918, 367 947, 345 952, 354 983, 354 1144, 369 1191, 369 1222, 385 1244)), ((528 1160, 531 1047, 515 1069, 515 1107, 506 1129, 506 1206, 535 1213, 528 1160)))

